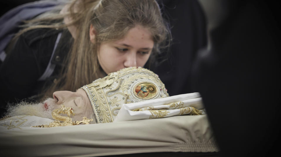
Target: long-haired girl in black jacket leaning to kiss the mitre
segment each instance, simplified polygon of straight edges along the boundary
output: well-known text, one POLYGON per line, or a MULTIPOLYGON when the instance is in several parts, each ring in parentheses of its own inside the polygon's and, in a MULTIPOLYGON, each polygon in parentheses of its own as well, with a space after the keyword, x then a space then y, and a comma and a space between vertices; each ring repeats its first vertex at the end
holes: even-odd
POLYGON ((155 0, 74 0, 25 26, 6 48, 1 100, 75 91, 122 68, 143 67, 170 39, 155 0))

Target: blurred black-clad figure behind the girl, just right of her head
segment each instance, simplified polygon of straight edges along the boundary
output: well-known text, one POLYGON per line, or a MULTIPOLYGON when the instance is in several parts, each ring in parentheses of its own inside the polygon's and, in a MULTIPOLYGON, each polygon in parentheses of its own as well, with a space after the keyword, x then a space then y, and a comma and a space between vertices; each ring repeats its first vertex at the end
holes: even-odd
POLYGON ((190 72, 196 52, 207 44, 205 14, 197 0, 157 1, 169 20, 173 41, 151 70, 159 75, 170 96, 195 92, 190 72))

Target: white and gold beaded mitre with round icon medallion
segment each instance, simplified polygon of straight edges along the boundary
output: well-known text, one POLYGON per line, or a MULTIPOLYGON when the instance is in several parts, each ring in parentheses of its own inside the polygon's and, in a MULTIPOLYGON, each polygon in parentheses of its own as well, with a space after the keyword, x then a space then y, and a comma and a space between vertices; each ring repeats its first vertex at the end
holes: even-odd
POLYGON ((169 96, 158 75, 141 67, 121 69, 81 88, 90 99, 97 123, 113 122, 122 104, 169 96))

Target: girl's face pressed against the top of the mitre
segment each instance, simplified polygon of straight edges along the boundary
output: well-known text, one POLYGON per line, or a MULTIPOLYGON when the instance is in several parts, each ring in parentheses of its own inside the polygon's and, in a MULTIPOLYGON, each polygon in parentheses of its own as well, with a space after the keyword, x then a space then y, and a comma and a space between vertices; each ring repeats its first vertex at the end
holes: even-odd
POLYGON ((123 39, 101 43, 97 57, 107 74, 131 66, 143 67, 148 61, 153 45, 148 29, 137 25, 130 29, 123 39))

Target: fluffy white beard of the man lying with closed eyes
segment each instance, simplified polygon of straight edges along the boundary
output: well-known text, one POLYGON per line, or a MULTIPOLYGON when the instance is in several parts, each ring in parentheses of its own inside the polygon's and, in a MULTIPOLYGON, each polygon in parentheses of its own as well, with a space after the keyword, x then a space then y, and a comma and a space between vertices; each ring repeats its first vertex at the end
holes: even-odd
POLYGON ((29 103, 21 102, 16 105, 8 105, 7 114, 8 116, 18 116, 18 115, 31 115, 43 118, 52 119, 52 110, 54 110, 54 104, 56 100, 52 98, 47 98, 43 103, 29 103), (48 109, 44 107, 44 103, 50 104, 48 109))

